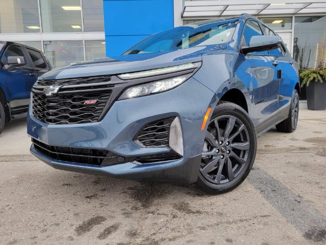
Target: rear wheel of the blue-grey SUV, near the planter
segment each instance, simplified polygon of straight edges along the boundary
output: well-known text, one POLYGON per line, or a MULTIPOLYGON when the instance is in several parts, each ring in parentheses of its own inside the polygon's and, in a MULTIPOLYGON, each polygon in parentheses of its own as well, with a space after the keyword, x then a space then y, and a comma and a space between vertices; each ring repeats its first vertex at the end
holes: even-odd
POLYGON ((292 133, 297 126, 297 118, 299 115, 299 94, 294 89, 288 117, 276 125, 276 129, 284 133, 292 133))

